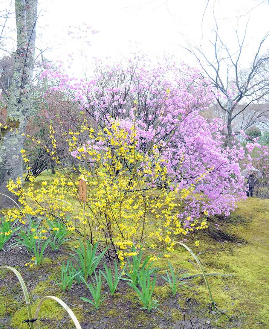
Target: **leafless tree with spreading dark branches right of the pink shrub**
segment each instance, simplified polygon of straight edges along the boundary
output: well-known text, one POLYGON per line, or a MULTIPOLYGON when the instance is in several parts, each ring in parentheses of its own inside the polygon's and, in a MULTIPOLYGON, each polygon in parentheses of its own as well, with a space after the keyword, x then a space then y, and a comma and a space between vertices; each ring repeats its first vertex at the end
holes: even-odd
POLYGON ((240 118, 243 121, 242 129, 247 129, 260 122, 268 122, 269 107, 261 106, 261 104, 264 105, 264 99, 269 95, 269 52, 268 50, 262 52, 269 39, 269 31, 261 38, 249 67, 242 69, 247 27, 248 24, 245 26, 243 37, 240 38, 237 20, 235 29, 237 50, 235 52, 220 36, 216 18, 214 40, 210 41, 212 57, 205 50, 190 43, 187 43, 187 47, 183 47, 198 61, 202 68, 202 77, 217 90, 217 104, 219 109, 224 112, 223 118, 227 126, 227 145, 231 142, 232 123, 236 119, 240 118), (253 111, 254 105, 260 106, 259 111, 253 111))

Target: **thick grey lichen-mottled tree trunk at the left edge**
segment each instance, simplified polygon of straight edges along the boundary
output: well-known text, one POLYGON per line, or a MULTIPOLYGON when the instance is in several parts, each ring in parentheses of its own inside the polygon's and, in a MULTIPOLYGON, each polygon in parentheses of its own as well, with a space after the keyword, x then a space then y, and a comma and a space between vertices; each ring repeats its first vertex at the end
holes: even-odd
MULTIPOLYGON (((9 179, 22 176, 23 163, 20 150, 23 149, 23 136, 29 117, 29 89, 33 78, 37 0, 15 0, 17 50, 14 74, 7 108, 8 128, 1 130, 0 145, 0 193, 13 200, 17 197, 6 188, 9 179), (12 127, 12 131, 10 129, 12 127), (19 133, 16 133, 18 129, 19 133)), ((0 195, 0 208, 14 207, 9 198, 0 195)))

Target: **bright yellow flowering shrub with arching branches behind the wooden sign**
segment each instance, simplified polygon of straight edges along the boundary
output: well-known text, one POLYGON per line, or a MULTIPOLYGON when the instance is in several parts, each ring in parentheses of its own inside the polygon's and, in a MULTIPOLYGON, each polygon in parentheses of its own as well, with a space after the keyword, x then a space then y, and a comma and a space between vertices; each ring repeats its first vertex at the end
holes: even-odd
MULTIPOLYGON (((167 91, 169 93, 170 90, 167 91)), ((56 154, 54 130, 50 127, 50 138, 56 154)), ((30 175, 26 189, 21 179, 10 180, 7 188, 18 196, 20 210, 7 210, 9 219, 24 223, 26 215, 55 217, 60 219, 69 231, 85 235, 91 241, 113 246, 121 261, 134 255, 132 247, 162 248, 164 257, 174 250, 177 235, 187 235, 194 229, 207 227, 192 222, 185 228, 180 219, 180 202, 189 196, 193 186, 179 190, 167 189, 171 185, 165 166, 166 160, 158 153, 159 145, 152 142, 146 153, 137 150, 135 122, 130 131, 120 128, 115 121, 110 129, 96 132, 84 122, 78 132, 67 136, 69 151, 75 152, 81 166, 78 171, 87 180, 86 214, 78 197, 78 179, 64 173, 57 173, 49 181, 43 181, 35 189, 35 178, 30 175), (88 134, 88 142, 79 143, 80 134, 88 134), (96 145, 103 145, 97 148, 96 145), (156 182, 165 182, 158 186, 156 182)), ((21 150, 27 159, 25 150, 21 150)), ((53 154, 52 154, 53 153, 53 154)), ((26 161, 26 160, 24 160, 26 161)), ((183 160, 182 160, 183 161, 183 160)), ((59 230, 53 228, 53 231, 59 230)), ((40 234, 47 233, 42 230, 40 234)), ((38 239, 38 235, 34 236, 38 239)), ((46 239, 42 236, 41 239, 46 239)), ((152 260, 155 256, 152 256, 152 260)))

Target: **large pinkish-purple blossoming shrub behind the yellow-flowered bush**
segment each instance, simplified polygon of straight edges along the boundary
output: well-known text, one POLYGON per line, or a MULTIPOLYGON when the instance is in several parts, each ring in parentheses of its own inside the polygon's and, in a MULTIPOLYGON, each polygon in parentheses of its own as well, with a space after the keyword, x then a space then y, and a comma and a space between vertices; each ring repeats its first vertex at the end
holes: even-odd
MULTIPOLYGON (((197 70, 186 65, 177 67, 168 61, 151 67, 139 59, 129 61, 126 67, 97 63, 94 76, 88 81, 49 68, 42 76, 51 86, 45 94, 46 115, 53 119, 55 130, 60 125, 66 135, 70 128, 77 132, 78 149, 95 143, 80 131, 85 122, 95 132, 101 129, 106 134, 106 129, 110 130, 117 121, 130 136, 135 124, 138 152, 147 154, 152 143, 158 145, 156 152, 165 160, 172 182, 167 188, 194 188, 183 200, 180 216, 185 227, 201 214, 229 215, 235 202, 245 198, 244 178, 238 164, 245 151, 239 143, 224 147, 220 122, 200 115, 214 100, 215 93, 197 70), (63 117, 57 113, 57 106, 50 107, 55 93, 76 104, 67 109, 69 115, 63 117)), ((94 147, 102 150, 104 145, 94 147)), ((80 160, 78 151, 72 149, 72 156, 80 160)), ((83 162, 80 164, 83 166, 83 162)), ((163 182, 155 184, 161 186, 163 182)))

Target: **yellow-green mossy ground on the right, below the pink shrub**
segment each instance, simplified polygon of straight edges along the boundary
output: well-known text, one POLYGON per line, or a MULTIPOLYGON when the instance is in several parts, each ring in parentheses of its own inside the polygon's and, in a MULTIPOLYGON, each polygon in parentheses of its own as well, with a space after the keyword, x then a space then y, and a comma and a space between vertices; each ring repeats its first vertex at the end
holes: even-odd
MULTIPOLYGON (((203 232, 200 247, 192 246, 196 254, 206 251, 199 259, 207 273, 234 274, 232 277, 208 277, 214 301, 229 317, 237 318, 239 324, 234 328, 269 328, 269 200, 249 198, 239 202, 238 209, 227 221, 217 222, 221 231, 245 242, 218 243, 203 232)), ((188 259, 191 255, 182 249, 174 253, 171 263, 191 274, 199 273, 188 259)), ((160 267, 164 267, 164 260, 158 262, 160 267)), ((206 306, 208 292, 204 280, 195 278, 191 286, 189 297, 206 306)), ((223 316, 215 325, 226 328, 228 323, 228 318, 223 316)))

